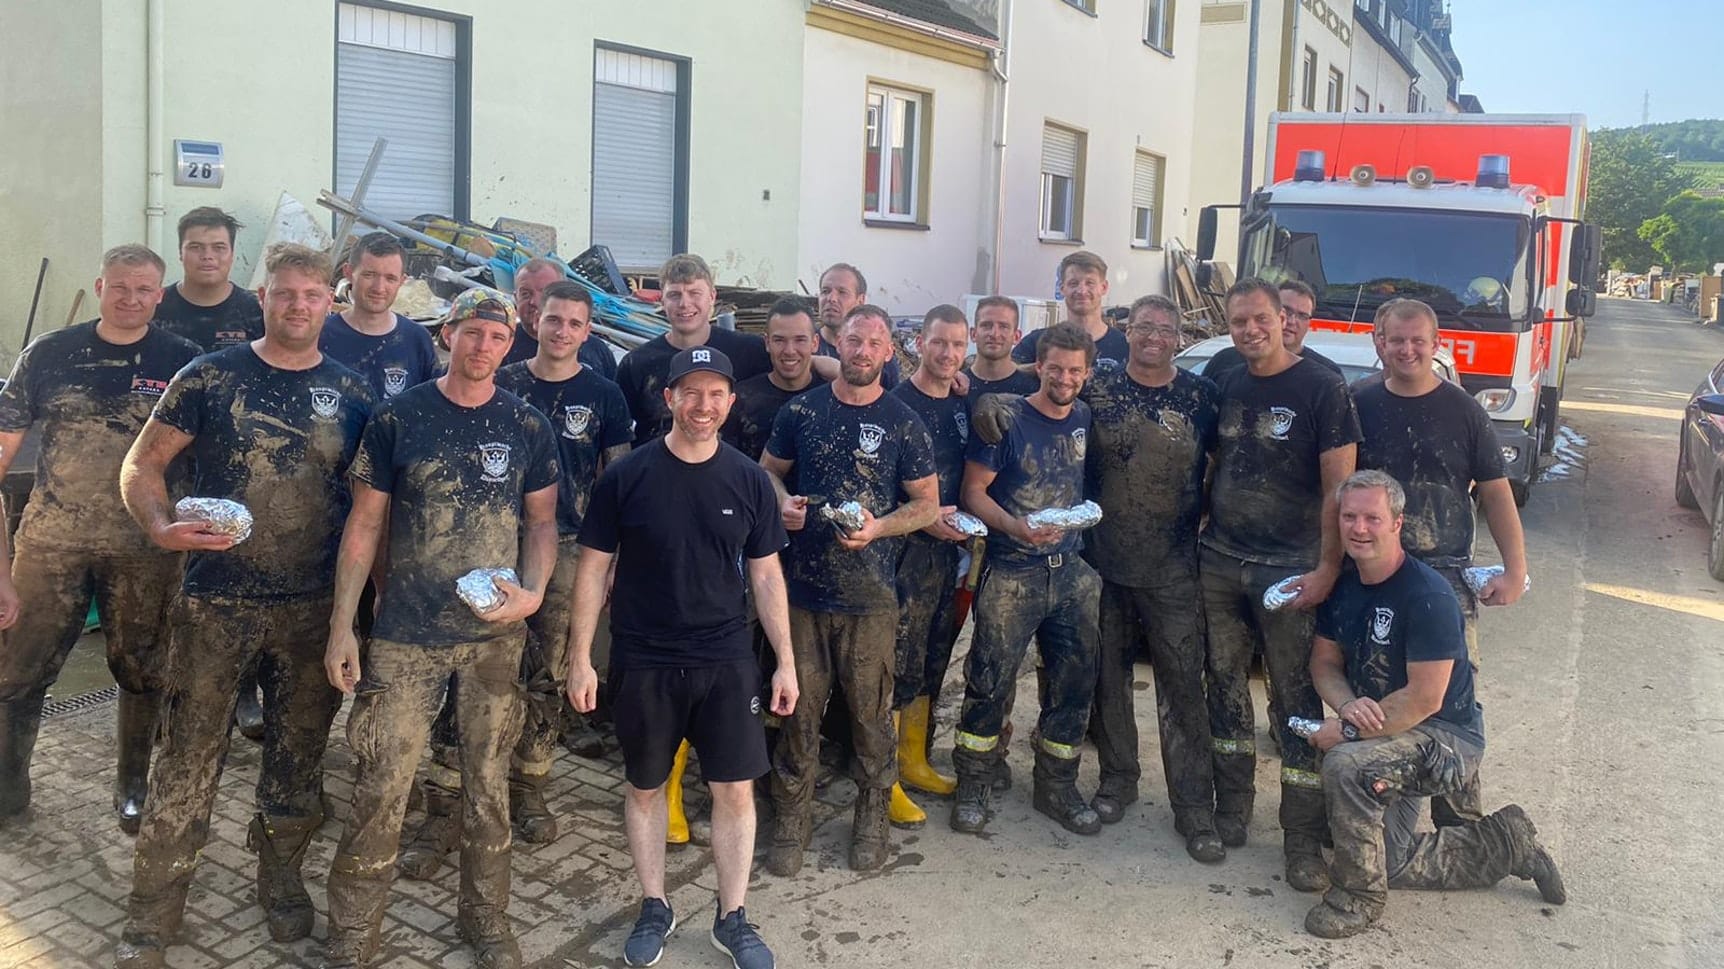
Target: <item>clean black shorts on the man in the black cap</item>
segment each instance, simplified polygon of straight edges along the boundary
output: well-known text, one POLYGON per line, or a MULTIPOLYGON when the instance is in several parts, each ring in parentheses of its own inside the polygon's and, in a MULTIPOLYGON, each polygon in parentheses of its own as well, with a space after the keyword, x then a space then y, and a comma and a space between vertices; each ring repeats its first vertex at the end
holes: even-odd
POLYGON ((738 660, 709 667, 612 669, 610 716, 622 745, 622 772, 650 791, 671 776, 686 738, 712 783, 752 781, 771 769, 760 714, 760 667, 738 660))

